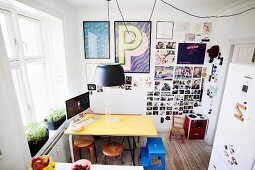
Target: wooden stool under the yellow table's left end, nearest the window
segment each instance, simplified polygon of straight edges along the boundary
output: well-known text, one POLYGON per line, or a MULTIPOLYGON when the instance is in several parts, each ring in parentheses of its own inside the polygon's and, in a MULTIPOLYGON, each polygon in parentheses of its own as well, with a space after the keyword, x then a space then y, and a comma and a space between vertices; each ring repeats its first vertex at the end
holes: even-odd
POLYGON ((74 149, 74 161, 76 161, 77 151, 80 151, 80 158, 81 158, 81 150, 88 149, 90 153, 91 163, 95 163, 95 157, 97 162, 96 145, 95 145, 93 136, 85 136, 83 138, 74 139, 73 149, 74 149))

